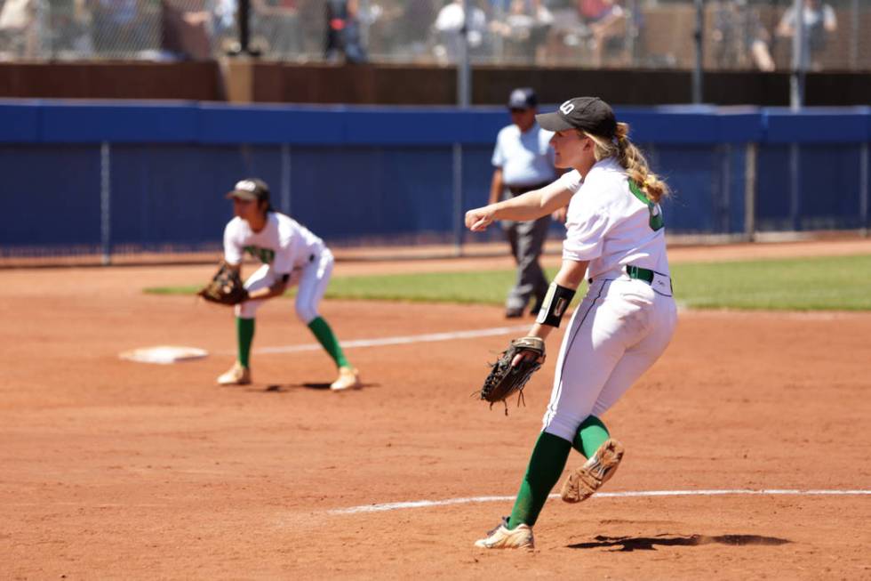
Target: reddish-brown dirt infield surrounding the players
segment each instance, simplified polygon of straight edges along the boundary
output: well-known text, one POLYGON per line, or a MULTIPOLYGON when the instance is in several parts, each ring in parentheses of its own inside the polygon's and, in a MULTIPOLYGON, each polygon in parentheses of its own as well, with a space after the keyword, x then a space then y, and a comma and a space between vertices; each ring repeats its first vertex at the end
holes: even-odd
MULTIPOLYGON (((365 387, 333 393, 321 351, 257 352, 312 343, 276 301, 261 311, 256 383, 220 388, 228 311, 141 293, 211 270, 0 272, 0 578, 871 577, 867 495, 552 500, 534 553, 476 551, 511 501, 460 500, 514 495, 555 357, 508 416, 469 398, 508 335, 350 348, 365 387), (117 357, 167 343, 211 355, 117 357), (337 512, 420 500, 457 504, 337 512)), ((497 307, 323 311, 344 341, 506 325, 497 307)), ((871 489, 868 336, 871 313, 684 312, 605 418, 627 447, 607 492, 871 489)))

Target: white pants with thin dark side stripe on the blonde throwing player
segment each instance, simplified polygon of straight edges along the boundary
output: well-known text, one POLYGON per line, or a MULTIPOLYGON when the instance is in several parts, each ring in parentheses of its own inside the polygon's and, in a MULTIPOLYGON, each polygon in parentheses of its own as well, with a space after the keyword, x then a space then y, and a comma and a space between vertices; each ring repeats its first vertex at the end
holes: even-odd
POLYGON ((563 336, 544 431, 574 440, 587 416, 601 416, 659 359, 676 323, 674 298, 646 282, 594 280, 563 336))

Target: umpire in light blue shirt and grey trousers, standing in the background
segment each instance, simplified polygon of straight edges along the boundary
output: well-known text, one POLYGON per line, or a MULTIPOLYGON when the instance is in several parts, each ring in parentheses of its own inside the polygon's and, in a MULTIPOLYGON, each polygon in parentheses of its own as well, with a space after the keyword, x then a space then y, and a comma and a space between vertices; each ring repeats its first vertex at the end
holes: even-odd
MULTIPOLYGON (((495 204, 505 196, 538 190, 555 180, 554 149, 550 147, 554 133, 535 122, 538 104, 529 87, 515 89, 508 97, 511 125, 503 127, 496 138, 488 204, 495 204)), ((531 309, 535 315, 547 293, 547 278, 541 270, 539 254, 547 238, 550 215, 530 222, 501 223, 517 262, 517 281, 508 293, 505 316, 508 319, 523 316, 531 298, 535 299, 531 309)))

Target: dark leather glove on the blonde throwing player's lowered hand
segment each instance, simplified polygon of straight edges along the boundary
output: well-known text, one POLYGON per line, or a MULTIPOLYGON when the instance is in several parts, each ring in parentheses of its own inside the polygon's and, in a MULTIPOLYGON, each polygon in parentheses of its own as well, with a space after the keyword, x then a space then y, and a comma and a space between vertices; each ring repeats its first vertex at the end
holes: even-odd
MULTIPOLYGON (((539 370, 545 358, 545 343, 540 337, 521 337, 508 344, 508 348, 502 351, 496 363, 492 364, 490 375, 483 382, 481 399, 490 402, 490 407, 497 401, 505 400, 519 393, 518 404, 523 399, 523 386, 530 380, 533 373, 539 370), (526 353, 517 365, 512 366, 515 356, 526 353), (530 355, 531 354, 531 355, 530 355)), ((505 405, 505 413, 508 406, 505 405)))

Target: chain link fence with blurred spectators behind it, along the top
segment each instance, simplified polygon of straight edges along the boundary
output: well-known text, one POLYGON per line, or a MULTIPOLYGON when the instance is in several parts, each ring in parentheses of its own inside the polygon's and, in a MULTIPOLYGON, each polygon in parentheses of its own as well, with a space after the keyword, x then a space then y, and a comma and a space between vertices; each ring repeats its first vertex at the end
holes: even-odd
MULTIPOLYGON (((0 0, 0 60, 203 60, 238 48, 238 0, 0 0)), ((268 60, 456 62, 462 0, 250 0, 268 60)), ((811 70, 871 70, 871 2, 803 0, 811 70)), ((692 69, 693 0, 469 0, 476 64, 692 69)), ((786 70, 794 0, 705 0, 707 70, 786 70)))

